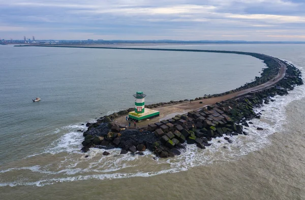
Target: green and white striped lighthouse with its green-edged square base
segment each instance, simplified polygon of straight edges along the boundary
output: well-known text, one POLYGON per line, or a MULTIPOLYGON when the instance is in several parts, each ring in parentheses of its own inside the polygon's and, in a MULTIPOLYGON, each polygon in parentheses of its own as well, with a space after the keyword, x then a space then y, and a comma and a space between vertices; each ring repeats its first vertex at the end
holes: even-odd
POLYGON ((135 98, 135 111, 129 112, 129 118, 136 120, 136 121, 142 121, 149 118, 154 118, 160 115, 160 112, 157 110, 151 110, 148 108, 145 108, 145 101, 144 98, 146 97, 143 92, 136 92, 136 94, 133 95, 135 98))

